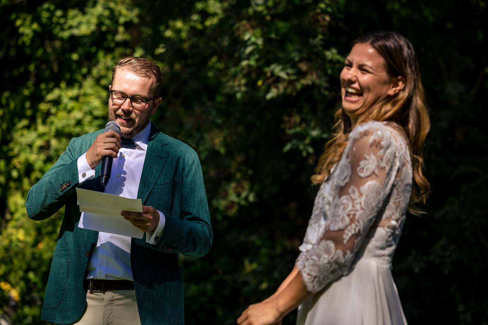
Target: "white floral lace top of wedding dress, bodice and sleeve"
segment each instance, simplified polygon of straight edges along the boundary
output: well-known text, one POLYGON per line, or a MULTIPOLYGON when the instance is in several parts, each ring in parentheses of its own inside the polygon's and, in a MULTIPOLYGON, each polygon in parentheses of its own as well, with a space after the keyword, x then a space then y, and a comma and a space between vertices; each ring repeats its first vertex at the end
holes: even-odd
POLYGON ((299 248, 296 265, 308 291, 317 292, 348 274, 359 258, 391 267, 411 183, 403 134, 376 121, 352 130, 341 161, 317 193, 299 248), (342 240, 333 239, 334 233, 342 240))

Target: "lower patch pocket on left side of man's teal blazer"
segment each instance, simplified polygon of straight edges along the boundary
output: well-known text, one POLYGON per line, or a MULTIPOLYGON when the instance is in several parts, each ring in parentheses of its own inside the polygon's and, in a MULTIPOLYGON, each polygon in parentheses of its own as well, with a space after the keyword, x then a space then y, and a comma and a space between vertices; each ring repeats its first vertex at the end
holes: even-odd
POLYGON ((69 249, 56 247, 47 280, 44 308, 54 308, 61 302, 68 273, 69 249))

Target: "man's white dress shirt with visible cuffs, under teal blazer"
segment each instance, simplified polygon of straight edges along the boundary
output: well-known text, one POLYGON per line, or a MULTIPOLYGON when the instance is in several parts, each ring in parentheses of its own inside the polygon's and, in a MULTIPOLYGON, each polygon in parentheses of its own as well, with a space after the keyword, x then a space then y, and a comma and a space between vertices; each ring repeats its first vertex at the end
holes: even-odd
MULTIPOLYGON (((151 122, 141 133, 132 137, 135 148, 122 146, 117 158, 114 158, 110 179, 104 189, 105 193, 136 199, 141 182, 142 167, 146 156, 151 122)), ((95 177, 95 170, 91 169, 84 153, 78 158, 78 178, 80 183, 95 177)), ((158 227, 152 232, 146 232, 146 242, 156 244, 163 232, 165 218, 160 214, 158 227)), ((81 212, 83 213, 83 212, 81 212)), ((121 222, 128 222, 121 216, 121 222)), ((130 266, 131 237, 107 232, 99 232, 97 246, 93 250, 85 279, 130 280, 132 269, 130 266)))

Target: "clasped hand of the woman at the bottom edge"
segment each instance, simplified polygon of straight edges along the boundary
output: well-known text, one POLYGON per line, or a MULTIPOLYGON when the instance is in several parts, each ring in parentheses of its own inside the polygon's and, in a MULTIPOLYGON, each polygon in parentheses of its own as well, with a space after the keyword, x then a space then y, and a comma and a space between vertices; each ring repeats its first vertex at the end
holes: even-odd
POLYGON ((276 300, 266 300, 247 307, 237 319, 239 325, 281 325, 283 316, 277 308, 276 300))

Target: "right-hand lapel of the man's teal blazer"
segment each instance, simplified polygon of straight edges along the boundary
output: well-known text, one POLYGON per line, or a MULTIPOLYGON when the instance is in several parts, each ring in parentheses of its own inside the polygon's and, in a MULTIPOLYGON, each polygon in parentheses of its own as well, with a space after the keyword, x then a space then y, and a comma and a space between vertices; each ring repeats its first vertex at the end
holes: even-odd
POLYGON ((151 133, 149 134, 146 157, 144 159, 144 166, 142 167, 141 183, 139 183, 139 190, 137 193, 137 197, 142 200, 142 204, 146 202, 149 193, 166 164, 169 151, 165 149, 165 146, 168 144, 165 137, 166 136, 151 123, 151 133))

